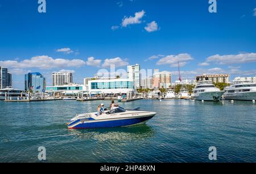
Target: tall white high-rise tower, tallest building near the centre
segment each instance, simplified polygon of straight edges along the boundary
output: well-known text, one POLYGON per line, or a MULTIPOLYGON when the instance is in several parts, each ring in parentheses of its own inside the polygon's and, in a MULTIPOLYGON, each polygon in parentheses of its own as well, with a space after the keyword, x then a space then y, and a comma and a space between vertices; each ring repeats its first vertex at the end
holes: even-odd
POLYGON ((141 87, 141 65, 127 66, 127 78, 134 81, 135 88, 141 87))

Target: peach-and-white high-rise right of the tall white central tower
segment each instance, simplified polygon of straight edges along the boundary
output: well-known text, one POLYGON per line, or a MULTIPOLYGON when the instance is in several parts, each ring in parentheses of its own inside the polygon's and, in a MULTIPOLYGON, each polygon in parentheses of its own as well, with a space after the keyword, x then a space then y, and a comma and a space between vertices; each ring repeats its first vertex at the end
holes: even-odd
POLYGON ((158 69, 154 71, 153 86, 154 88, 169 88, 172 83, 172 74, 168 71, 159 72, 158 69))

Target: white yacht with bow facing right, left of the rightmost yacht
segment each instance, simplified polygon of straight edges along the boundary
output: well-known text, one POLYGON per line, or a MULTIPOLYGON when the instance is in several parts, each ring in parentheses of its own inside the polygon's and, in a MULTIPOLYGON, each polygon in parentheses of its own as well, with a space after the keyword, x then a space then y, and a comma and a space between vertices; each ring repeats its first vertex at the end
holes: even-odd
POLYGON ((204 101, 219 101, 224 91, 216 88, 212 81, 204 80, 197 82, 196 87, 193 89, 192 98, 195 100, 204 101))

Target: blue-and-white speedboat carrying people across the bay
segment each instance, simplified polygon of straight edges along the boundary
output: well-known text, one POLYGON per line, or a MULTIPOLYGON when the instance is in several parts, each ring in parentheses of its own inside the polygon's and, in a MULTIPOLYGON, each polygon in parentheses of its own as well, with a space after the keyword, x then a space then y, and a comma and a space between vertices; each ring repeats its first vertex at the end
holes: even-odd
POLYGON ((100 116, 97 113, 79 114, 68 123, 68 129, 114 128, 143 124, 155 116, 155 112, 141 111, 139 108, 129 110, 117 107, 105 111, 100 116))

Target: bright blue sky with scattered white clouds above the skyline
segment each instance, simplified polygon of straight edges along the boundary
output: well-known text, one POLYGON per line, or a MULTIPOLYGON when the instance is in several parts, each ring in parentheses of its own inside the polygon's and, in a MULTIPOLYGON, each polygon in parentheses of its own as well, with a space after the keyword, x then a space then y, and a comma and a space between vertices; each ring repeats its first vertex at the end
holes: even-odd
POLYGON ((14 87, 38 71, 51 85, 53 71, 74 71, 82 83, 100 69, 140 63, 183 78, 203 73, 256 74, 256 1, 0 0, 0 66, 14 87))

